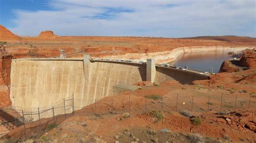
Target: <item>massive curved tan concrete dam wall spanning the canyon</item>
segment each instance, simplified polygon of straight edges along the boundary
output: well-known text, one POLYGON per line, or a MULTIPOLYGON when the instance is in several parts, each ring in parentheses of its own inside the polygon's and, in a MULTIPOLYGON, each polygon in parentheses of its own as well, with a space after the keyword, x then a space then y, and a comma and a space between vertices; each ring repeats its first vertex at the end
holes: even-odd
POLYGON ((75 105, 82 107, 112 95, 113 85, 118 83, 173 79, 190 84, 207 78, 193 71, 154 66, 154 62, 89 60, 87 55, 84 59, 14 59, 10 99, 13 106, 37 110, 54 106, 73 94, 75 99, 81 99, 75 105))

